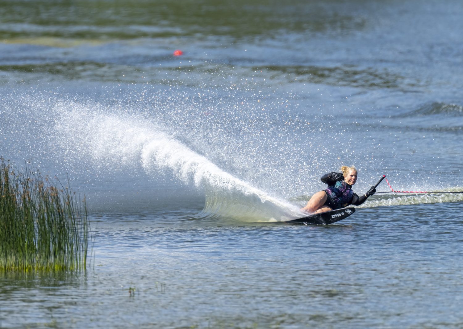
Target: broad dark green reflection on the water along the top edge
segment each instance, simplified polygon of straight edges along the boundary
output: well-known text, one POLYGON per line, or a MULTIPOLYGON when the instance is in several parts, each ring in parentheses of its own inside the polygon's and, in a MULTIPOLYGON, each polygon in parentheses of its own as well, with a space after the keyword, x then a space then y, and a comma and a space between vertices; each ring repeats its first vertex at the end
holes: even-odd
POLYGON ((288 31, 345 34, 366 26, 365 18, 346 15, 339 1, 3 1, 0 15, 0 39, 200 35, 240 39, 288 31))

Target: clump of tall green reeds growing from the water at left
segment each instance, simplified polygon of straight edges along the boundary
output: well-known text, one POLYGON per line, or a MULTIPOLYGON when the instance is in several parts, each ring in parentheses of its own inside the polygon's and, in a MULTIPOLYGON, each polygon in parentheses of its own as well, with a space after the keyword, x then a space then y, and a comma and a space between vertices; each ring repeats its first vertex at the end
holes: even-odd
POLYGON ((89 221, 85 199, 33 166, 19 171, 0 158, 0 270, 86 268, 89 221))

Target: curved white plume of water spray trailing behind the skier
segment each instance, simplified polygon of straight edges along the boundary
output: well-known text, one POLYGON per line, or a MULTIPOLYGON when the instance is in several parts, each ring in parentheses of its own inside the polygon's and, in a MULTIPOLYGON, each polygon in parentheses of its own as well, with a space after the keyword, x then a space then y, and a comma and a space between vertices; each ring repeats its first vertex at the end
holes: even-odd
POLYGON ((108 115, 78 106, 65 111, 55 128, 63 148, 100 165, 141 165, 153 177, 170 172, 181 182, 204 188, 201 217, 245 221, 284 221, 300 217, 298 208, 233 177, 156 124, 131 115, 108 115), (78 151, 78 152, 76 152, 78 151))

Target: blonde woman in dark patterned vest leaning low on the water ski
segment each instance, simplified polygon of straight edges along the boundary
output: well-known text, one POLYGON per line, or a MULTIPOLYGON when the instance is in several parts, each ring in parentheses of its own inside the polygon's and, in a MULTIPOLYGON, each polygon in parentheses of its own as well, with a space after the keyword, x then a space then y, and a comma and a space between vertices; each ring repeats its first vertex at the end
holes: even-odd
POLYGON ((328 184, 328 188, 315 193, 307 202, 307 206, 300 210, 306 213, 322 213, 334 209, 344 208, 349 205, 360 206, 370 195, 374 195, 374 186, 362 196, 352 191, 352 185, 357 182, 357 169, 354 167, 342 166, 339 172, 330 172, 320 179, 328 184))

